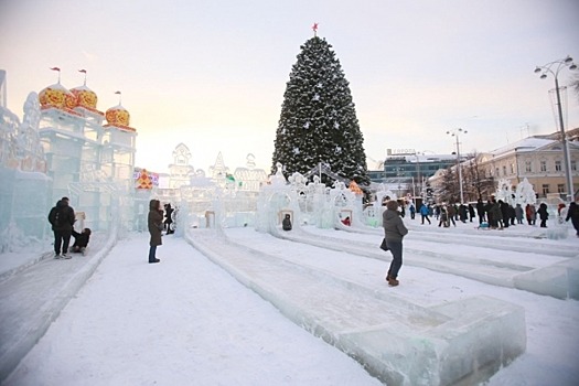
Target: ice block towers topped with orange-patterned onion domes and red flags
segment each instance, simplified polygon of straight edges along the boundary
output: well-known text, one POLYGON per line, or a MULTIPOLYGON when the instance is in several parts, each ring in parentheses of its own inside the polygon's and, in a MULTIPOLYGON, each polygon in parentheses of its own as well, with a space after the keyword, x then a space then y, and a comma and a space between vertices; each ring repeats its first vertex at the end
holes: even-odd
POLYGON ((85 226, 106 229, 112 215, 128 226, 132 213, 122 201, 131 200, 137 130, 130 114, 119 104, 106 114, 97 108, 98 97, 84 84, 68 90, 58 82, 39 94, 39 135, 46 154, 47 174, 53 180, 52 204, 68 196, 85 226), (122 213, 126 211, 126 213, 122 213))

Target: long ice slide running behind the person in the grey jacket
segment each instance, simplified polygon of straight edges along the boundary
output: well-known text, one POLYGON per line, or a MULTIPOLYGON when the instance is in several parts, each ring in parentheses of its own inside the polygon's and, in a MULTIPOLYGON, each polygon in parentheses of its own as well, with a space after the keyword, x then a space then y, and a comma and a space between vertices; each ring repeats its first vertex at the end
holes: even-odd
MULTIPOLYGON (((368 232, 363 232, 368 233, 368 232)), ((390 261, 392 256, 382 251, 377 244, 371 245, 364 242, 345 240, 336 237, 318 237, 296 227, 291 233, 274 229, 271 234, 276 237, 313 245, 321 248, 346 251, 354 255, 372 257, 390 261)), ((382 233, 371 230, 379 240, 382 233)), ((421 240, 437 240, 436 237, 420 236, 421 240)), ((410 238, 410 237, 409 237, 410 238)), ((440 242, 440 238, 438 238, 440 242)), ((473 246, 497 247, 492 240, 464 240, 473 246)), ((503 245, 503 248, 505 246, 503 245)), ((454 274, 472 280, 478 280, 493 286, 517 288, 529 292, 550 296, 557 299, 579 300, 579 255, 569 246, 560 246, 557 249, 529 246, 525 244, 510 245, 510 250, 521 253, 538 253, 567 259, 546 267, 532 265, 517 265, 501 262, 483 258, 472 258, 449 254, 439 254, 428 250, 405 247, 404 264, 436 270, 439 272, 454 274), (538 249, 537 249, 538 248, 538 249)))

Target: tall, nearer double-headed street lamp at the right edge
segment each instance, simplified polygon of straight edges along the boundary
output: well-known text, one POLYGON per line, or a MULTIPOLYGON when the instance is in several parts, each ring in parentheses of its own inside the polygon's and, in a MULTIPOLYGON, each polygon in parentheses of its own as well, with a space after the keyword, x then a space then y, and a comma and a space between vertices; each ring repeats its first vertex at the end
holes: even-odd
POLYGON ((573 201, 573 180, 571 178, 571 158, 569 157, 569 148, 567 147, 567 136, 565 135, 565 127, 562 122, 562 109, 561 109, 561 97, 559 95, 559 71, 561 68, 569 67, 569 69, 576 69, 577 65, 573 63, 571 56, 547 63, 544 66, 535 67, 535 74, 542 73, 540 78, 545 79, 547 73, 550 73, 555 77, 555 93, 557 95, 557 111, 559 112, 559 129, 561 131, 561 143, 562 154, 565 159, 565 176, 567 183, 567 202, 573 201), (551 69, 553 68, 553 69, 551 69))

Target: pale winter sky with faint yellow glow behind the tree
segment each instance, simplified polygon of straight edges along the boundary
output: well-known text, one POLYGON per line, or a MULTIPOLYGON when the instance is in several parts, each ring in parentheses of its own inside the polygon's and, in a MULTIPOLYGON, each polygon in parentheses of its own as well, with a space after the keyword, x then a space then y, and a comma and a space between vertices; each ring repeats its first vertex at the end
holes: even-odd
MULTIPOLYGON (((195 169, 222 151, 229 168, 253 153, 269 170, 286 83, 314 22, 350 82, 369 169, 387 148, 450 153, 453 128, 469 131, 462 152, 555 131, 554 78, 533 69, 579 62, 576 0, 2 0, 8 107, 21 117, 28 93, 56 82, 50 67, 68 88, 84 68, 100 110, 122 92, 138 167, 164 171, 183 142, 195 169)), ((560 84, 572 76, 561 71, 560 84)), ((578 97, 567 97, 566 124, 579 127, 578 97)))

